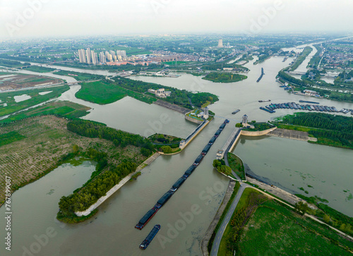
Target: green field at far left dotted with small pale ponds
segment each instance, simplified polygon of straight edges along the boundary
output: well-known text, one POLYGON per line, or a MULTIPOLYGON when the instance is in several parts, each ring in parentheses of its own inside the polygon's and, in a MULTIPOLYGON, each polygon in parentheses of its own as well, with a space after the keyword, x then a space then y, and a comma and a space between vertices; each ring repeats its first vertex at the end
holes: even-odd
POLYGON ((23 90, 17 92, 0 93, 1 104, 6 103, 7 106, 0 106, 0 116, 6 116, 30 106, 35 106, 49 99, 59 97, 63 92, 69 89, 68 85, 59 87, 50 87, 45 89, 23 90), (40 92, 49 92, 47 95, 40 95, 40 92), (23 102, 15 102, 14 96, 29 95, 31 98, 23 102))

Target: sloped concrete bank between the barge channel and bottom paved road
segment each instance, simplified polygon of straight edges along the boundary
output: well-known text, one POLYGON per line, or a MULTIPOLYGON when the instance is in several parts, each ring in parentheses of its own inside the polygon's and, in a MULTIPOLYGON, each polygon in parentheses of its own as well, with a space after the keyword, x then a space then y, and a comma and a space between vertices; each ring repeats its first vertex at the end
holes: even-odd
POLYGON ((208 227, 208 230, 205 233, 205 236, 203 237, 203 240, 201 241, 201 252, 203 256, 208 256, 208 249, 207 245, 210 242, 210 238, 213 234, 213 231, 215 231, 215 228, 220 221, 220 217, 222 216, 223 212, 225 211, 225 207, 227 206, 230 197, 232 196, 232 193, 234 191, 234 186, 235 186, 235 181, 229 181, 229 185, 227 188, 227 191, 225 193, 225 197, 223 198, 223 202, 220 205, 220 208, 218 209, 217 213, 215 214, 215 217, 213 218, 213 221, 211 222, 210 226, 208 227))

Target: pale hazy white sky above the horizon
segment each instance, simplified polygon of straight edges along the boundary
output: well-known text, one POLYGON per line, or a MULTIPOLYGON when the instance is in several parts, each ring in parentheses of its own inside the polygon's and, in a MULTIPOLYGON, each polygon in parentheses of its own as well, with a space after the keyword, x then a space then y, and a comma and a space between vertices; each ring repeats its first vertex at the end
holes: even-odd
POLYGON ((352 0, 0 0, 0 37, 353 32, 352 0))

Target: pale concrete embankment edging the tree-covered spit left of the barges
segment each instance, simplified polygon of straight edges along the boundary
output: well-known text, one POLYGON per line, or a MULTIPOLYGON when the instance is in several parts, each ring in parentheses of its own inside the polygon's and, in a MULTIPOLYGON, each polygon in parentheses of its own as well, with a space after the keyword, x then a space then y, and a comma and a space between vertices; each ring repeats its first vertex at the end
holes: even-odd
POLYGON ((140 166, 138 166, 136 168, 136 171, 128 174, 128 176, 123 178, 118 184, 114 185, 113 188, 111 188, 104 196, 100 197, 100 199, 98 199, 97 202, 95 202, 93 205, 91 205, 88 209, 86 209, 83 212, 75 212, 75 214, 78 217, 87 216, 88 214, 90 214, 93 210, 95 210, 97 207, 102 205, 102 203, 105 200, 107 200, 111 195, 113 195, 117 190, 119 190, 126 182, 130 181, 130 179, 133 175, 135 175, 136 173, 138 173, 138 171, 145 168, 145 166, 148 166, 148 164, 152 163, 152 161, 155 161, 155 159, 157 159, 157 157, 159 157, 159 156, 160 156, 160 153, 153 154, 150 158, 146 159, 142 164, 140 164, 140 166))

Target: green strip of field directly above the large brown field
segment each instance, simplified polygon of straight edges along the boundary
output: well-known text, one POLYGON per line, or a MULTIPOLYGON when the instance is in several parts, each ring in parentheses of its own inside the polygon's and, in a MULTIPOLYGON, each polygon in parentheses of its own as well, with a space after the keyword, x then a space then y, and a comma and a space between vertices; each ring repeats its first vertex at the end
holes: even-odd
POLYGON ((12 121, 19 121, 30 116, 44 116, 55 115, 66 118, 80 118, 88 114, 88 106, 83 106, 73 102, 49 102, 42 106, 37 106, 34 109, 20 112, 19 114, 10 116, 9 118, 0 120, 0 123, 10 123, 12 121))

